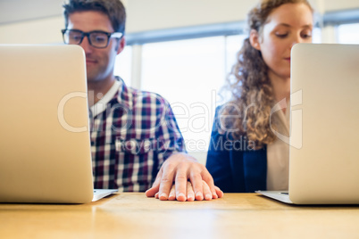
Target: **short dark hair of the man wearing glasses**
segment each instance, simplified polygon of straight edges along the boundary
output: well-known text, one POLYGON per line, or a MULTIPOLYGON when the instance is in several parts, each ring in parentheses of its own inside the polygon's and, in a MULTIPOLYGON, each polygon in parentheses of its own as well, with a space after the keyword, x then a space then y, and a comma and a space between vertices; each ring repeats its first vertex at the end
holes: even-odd
POLYGON ((115 32, 125 32, 126 11, 120 0, 69 0, 63 4, 63 8, 66 28, 71 13, 96 11, 108 16, 115 32))

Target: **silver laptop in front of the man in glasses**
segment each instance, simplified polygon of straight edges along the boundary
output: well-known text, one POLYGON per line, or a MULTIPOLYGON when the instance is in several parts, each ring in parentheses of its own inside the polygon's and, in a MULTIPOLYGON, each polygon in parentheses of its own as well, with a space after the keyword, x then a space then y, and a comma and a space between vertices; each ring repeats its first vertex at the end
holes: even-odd
POLYGON ((87 203, 93 188, 85 54, 0 45, 0 202, 87 203))

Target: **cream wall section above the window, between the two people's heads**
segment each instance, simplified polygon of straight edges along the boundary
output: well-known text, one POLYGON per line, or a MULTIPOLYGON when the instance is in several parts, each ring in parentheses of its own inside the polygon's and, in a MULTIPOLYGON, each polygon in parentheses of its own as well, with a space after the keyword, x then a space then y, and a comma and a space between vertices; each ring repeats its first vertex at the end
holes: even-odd
POLYGON ((129 0, 129 31, 241 21, 254 1, 129 0))

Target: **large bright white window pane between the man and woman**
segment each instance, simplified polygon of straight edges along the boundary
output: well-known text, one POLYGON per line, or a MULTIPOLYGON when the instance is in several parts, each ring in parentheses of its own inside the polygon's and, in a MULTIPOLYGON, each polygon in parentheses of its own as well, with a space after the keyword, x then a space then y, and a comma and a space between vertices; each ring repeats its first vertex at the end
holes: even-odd
POLYGON ((142 89, 170 103, 188 152, 205 152, 226 78, 225 37, 143 45, 142 89))

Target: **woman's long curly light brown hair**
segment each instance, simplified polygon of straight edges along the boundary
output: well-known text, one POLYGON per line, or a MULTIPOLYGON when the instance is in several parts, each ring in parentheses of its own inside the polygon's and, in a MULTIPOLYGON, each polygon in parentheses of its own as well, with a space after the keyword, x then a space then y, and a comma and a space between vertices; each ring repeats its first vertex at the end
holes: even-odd
MULTIPOLYGON (((248 13, 249 29, 261 34, 268 16, 282 4, 306 4, 313 12, 306 0, 262 0, 248 13)), ((261 52, 250 44, 249 37, 237 54, 227 87, 232 100, 221 107, 221 130, 230 133, 234 139, 246 136, 257 148, 271 144, 275 140, 270 126, 271 107, 275 101, 273 88, 268 78, 268 66, 261 52)))

